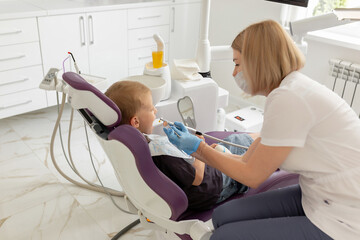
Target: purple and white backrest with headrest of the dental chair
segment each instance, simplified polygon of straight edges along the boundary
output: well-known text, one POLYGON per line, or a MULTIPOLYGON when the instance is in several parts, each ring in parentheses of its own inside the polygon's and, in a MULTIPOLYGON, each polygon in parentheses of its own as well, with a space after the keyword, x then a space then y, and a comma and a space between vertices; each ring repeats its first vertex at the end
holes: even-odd
POLYGON ((130 125, 119 126, 121 111, 116 104, 80 75, 66 72, 63 79, 69 85, 72 107, 90 121, 90 126, 96 123, 106 128, 102 129, 107 131, 104 137, 92 126, 121 187, 135 207, 176 220, 187 209, 187 197, 155 166, 145 137, 130 125))

